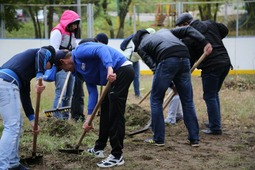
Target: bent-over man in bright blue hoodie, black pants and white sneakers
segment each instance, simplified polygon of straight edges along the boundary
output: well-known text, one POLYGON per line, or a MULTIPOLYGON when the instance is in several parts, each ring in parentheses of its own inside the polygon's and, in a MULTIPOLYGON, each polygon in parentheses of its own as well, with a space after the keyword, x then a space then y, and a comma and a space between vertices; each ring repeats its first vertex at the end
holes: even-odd
POLYGON ((86 83, 88 96, 88 116, 83 124, 85 131, 93 127, 88 125, 91 114, 98 101, 97 85, 104 86, 107 81, 111 87, 101 104, 99 138, 95 146, 88 149, 95 157, 104 157, 104 148, 108 138, 112 147, 111 154, 101 162, 99 167, 123 165, 123 141, 125 137, 125 108, 128 89, 134 80, 132 62, 119 51, 107 45, 86 42, 80 44, 71 53, 59 51, 56 65, 74 75, 80 74, 86 83))

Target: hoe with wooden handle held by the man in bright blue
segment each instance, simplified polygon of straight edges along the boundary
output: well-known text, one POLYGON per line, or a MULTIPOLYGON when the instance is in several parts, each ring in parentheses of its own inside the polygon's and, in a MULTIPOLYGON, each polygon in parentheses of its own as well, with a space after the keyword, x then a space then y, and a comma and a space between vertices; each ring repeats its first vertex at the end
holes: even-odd
MULTIPOLYGON (((99 100, 98 100, 98 102, 97 102, 97 104, 96 104, 96 106, 95 106, 95 108, 94 108, 94 110, 93 110, 93 112, 91 114, 90 120, 88 122, 89 125, 92 124, 92 121, 93 121, 94 117, 96 116, 97 111, 100 108, 100 106, 101 106, 101 104, 102 104, 102 102, 104 100, 104 97, 108 93, 110 87, 111 87, 111 83, 108 81, 108 83, 106 84, 106 86, 105 86, 105 88, 103 90, 102 95, 100 96, 100 98, 99 98, 99 100)), ((86 135, 86 131, 84 130, 82 135, 81 135, 81 137, 80 137, 80 139, 79 139, 78 144, 73 149, 59 149, 59 151, 60 152, 65 152, 65 153, 72 153, 72 154, 79 154, 79 153, 83 152, 83 150, 79 149, 79 147, 80 147, 81 142, 82 142, 83 138, 85 137, 85 135, 86 135)))

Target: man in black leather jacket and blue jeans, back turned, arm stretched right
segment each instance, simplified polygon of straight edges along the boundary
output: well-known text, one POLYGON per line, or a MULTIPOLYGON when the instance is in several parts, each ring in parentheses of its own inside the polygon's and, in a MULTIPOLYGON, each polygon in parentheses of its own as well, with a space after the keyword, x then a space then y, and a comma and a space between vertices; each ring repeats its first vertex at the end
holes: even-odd
POLYGON ((204 51, 210 54, 211 45, 192 27, 161 29, 154 34, 139 30, 132 39, 135 51, 154 72, 150 96, 153 138, 145 140, 147 143, 164 146, 165 124, 162 104, 165 92, 173 81, 183 107, 188 142, 191 146, 199 146, 199 125, 193 102, 190 56, 188 48, 180 40, 187 36, 201 43, 204 51))

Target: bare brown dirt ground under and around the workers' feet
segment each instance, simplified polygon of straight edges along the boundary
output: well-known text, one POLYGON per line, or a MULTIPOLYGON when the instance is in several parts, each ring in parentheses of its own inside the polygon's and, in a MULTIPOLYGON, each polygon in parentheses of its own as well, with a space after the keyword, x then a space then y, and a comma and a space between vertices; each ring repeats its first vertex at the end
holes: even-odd
MULTIPOLYGON (((222 90, 222 103, 226 101, 236 99, 229 99, 229 96, 233 97, 251 97, 254 96, 254 91, 238 91, 232 89, 222 90), (236 94, 238 93, 238 94, 236 94), (224 98, 226 94, 226 98, 224 98), (228 96, 228 97, 227 97, 228 96)), ((139 99, 130 95, 126 109, 126 133, 133 132, 136 129, 144 127, 150 118, 149 112, 149 99, 142 104, 137 104, 139 99)), ((206 115, 202 106, 199 103, 203 103, 201 95, 195 96, 196 106, 199 119, 200 129, 204 129, 204 120, 206 115), (202 109, 201 109, 202 107, 202 109)), ((234 104, 235 105, 235 104, 234 104)), ((232 109, 223 106, 222 110, 232 109)), ((245 107, 245 106, 244 106, 245 107)), ((249 107, 249 106, 247 106, 249 107)), ((253 111, 250 111, 253 112, 253 111)), ((124 141, 124 159, 125 164, 123 166, 114 167, 110 169, 127 169, 127 170, 253 170, 255 169, 255 115, 249 114, 246 121, 252 120, 253 123, 243 124, 241 119, 236 116, 225 115, 222 118, 223 122, 223 135, 211 136, 200 133, 200 146, 191 147, 186 144, 187 130, 183 121, 178 122, 176 125, 166 126, 165 134, 165 146, 157 147, 148 145, 144 142, 146 138, 152 137, 150 130, 129 137, 126 135, 124 141)), ((41 120, 41 126, 47 126, 51 129, 50 135, 59 137, 59 140, 67 139, 69 131, 72 128, 76 128, 76 125, 65 124, 61 125, 61 122, 56 120, 43 119, 41 120), (45 122, 45 125, 43 125, 45 122), (47 125, 46 125, 47 123, 47 125), (59 123, 59 124, 58 124, 59 123), (58 126, 59 125, 59 126, 58 126), (57 127, 61 127, 58 129, 57 127)), ((95 124, 98 124, 98 117, 95 118, 95 124)), ((80 128, 80 127, 79 127, 80 128)), ((98 127, 95 126, 93 132, 90 132, 85 138, 90 136, 96 136, 98 133, 98 127)), ((77 139, 79 136, 77 136, 77 139)), ((96 138, 95 138, 96 139, 96 138)), ((70 144, 70 143, 69 143, 70 144)), ((93 142, 92 142, 93 144, 93 142)), ((66 145, 68 148, 69 146, 66 145)), ((87 170, 87 169, 99 169, 96 163, 101 159, 94 158, 87 154, 86 149, 90 146, 82 144, 81 149, 84 149, 80 154, 68 154, 61 153, 57 150, 52 152, 43 153, 43 161, 40 164, 30 165, 29 167, 34 170, 49 170, 49 169, 61 169, 61 170, 87 170)), ((39 149, 40 146, 39 146, 39 149)), ((21 155, 27 154, 27 148, 21 144, 21 155)), ((110 146, 108 144, 105 154, 110 154, 110 146)))

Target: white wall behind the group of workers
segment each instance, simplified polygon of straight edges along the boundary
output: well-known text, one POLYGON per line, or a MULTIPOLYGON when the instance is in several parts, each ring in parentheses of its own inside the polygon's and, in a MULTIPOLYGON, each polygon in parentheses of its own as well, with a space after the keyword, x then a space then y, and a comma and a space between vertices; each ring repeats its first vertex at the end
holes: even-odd
MULTIPOLYGON (((108 45, 121 51, 121 42, 122 39, 110 39, 108 45)), ((235 70, 255 70, 255 37, 225 38, 223 42, 235 70)), ((49 45, 49 39, 0 39, 0 65, 19 52, 44 45, 49 45)), ((141 70, 148 70, 140 63, 141 70)))

